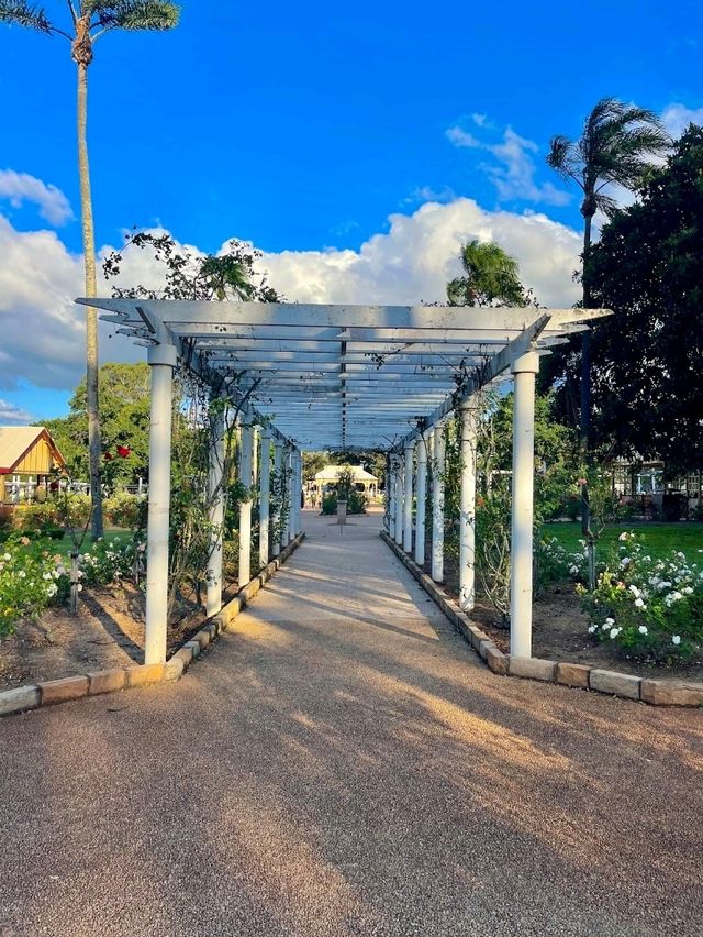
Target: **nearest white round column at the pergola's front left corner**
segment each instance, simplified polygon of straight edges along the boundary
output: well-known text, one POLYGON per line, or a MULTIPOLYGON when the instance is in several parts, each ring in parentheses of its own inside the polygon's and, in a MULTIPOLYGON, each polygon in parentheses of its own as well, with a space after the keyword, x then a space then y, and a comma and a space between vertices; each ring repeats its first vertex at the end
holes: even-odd
POLYGON ((146 531, 146 633, 144 663, 166 661, 168 630, 168 534, 171 501, 171 409, 176 349, 154 345, 149 416, 149 503, 146 531))

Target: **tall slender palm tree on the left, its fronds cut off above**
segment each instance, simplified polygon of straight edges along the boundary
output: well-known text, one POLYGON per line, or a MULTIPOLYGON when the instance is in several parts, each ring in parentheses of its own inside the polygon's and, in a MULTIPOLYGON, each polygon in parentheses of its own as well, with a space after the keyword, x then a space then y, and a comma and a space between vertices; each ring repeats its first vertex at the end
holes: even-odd
MULTIPOLYGON (((113 30, 170 30, 179 18, 179 8, 163 0, 67 0, 70 31, 59 29, 46 11, 26 0, 0 0, 0 22, 27 26, 45 35, 59 35, 70 43, 70 55, 78 68, 78 176, 86 264, 86 296, 98 295, 96 244, 86 136, 88 66, 98 38, 113 30)), ((100 489, 100 415, 98 400, 98 313, 86 307, 86 377, 88 390, 88 447, 90 455, 90 496, 92 536, 102 536, 102 496, 100 489)))

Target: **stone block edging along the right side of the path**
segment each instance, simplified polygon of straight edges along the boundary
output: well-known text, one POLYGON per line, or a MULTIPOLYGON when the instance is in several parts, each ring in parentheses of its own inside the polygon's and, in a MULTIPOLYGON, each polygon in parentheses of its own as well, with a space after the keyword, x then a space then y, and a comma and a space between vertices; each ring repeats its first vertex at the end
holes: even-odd
POLYGON ((622 696, 649 703, 652 706, 703 706, 703 683, 688 683, 678 680, 648 680, 631 673, 612 670, 599 670, 584 664, 547 661, 540 658, 518 658, 504 654, 489 636, 473 625, 458 603, 445 592, 395 543, 384 530, 381 539, 417 580, 425 592, 444 611, 459 633, 471 644, 493 673, 503 676, 522 676, 528 680, 543 680, 559 683, 562 686, 591 690, 609 696, 622 696))

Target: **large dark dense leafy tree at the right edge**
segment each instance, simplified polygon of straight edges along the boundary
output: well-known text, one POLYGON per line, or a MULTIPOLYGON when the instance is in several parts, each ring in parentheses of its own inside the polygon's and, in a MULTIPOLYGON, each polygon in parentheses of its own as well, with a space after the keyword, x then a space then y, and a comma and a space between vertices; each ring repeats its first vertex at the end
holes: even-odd
POLYGON ((594 442, 703 465, 703 129, 691 125, 589 261, 594 301, 594 442))

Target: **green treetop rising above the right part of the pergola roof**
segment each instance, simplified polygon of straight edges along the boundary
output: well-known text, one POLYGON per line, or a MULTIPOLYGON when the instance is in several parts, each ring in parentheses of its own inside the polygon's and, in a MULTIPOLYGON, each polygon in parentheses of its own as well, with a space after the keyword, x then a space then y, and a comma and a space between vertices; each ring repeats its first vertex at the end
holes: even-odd
POLYGON ((527 306, 517 261, 493 241, 469 241, 461 247, 464 276, 447 284, 449 306, 527 306))

